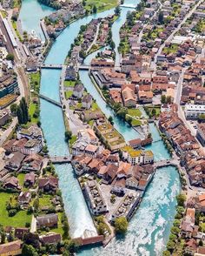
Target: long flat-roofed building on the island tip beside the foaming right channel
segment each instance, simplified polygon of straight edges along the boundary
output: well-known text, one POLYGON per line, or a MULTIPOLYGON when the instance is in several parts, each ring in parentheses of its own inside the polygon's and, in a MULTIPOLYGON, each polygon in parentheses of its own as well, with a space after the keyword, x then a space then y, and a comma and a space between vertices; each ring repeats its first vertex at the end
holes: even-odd
POLYGON ((111 221, 114 222, 116 218, 119 217, 125 217, 128 220, 131 219, 136 211, 136 206, 139 204, 140 199, 140 192, 129 192, 125 194, 122 201, 117 206, 116 211, 112 214, 111 221))

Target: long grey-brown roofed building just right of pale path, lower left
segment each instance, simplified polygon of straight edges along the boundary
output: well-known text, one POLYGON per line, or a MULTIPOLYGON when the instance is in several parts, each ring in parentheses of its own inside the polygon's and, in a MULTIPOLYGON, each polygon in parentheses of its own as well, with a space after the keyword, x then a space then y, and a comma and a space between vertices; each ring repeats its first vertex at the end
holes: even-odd
POLYGON ((57 227, 58 216, 56 213, 36 217, 37 228, 57 227))

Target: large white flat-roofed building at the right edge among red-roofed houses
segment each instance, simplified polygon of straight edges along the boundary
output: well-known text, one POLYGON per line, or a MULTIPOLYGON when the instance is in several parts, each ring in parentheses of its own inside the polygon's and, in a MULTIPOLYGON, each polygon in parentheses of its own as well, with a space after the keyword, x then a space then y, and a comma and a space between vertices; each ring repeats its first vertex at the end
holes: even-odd
POLYGON ((205 114, 205 105, 186 104, 184 114, 187 119, 197 119, 201 114, 205 114))

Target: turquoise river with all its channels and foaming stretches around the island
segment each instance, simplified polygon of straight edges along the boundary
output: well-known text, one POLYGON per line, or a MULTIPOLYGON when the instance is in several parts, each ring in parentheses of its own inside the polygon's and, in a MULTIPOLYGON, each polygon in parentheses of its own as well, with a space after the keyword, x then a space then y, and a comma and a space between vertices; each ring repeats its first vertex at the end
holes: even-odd
MULTIPOLYGON (((138 3, 135 0, 127 0, 125 3, 138 3)), ((33 30, 39 26, 39 20, 33 20, 32 23, 27 22, 32 13, 36 10, 41 13, 39 17, 45 15, 46 7, 41 7, 36 0, 24 0, 23 7, 20 12, 23 28, 26 30, 33 30), (34 3, 35 2, 35 3, 34 3), (24 10, 26 6, 26 12, 24 10), (23 12, 23 13, 22 13, 23 12), (24 18, 22 18, 24 17, 24 18)), ((50 11, 50 8, 48 9, 50 11)), ((113 40, 116 46, 119 44, 119 29, 125 21, 126 13, 129 9, 122 9, 121 18, 119 18, 113 26, 113 40), (115 28, 115 29, 114 29, 115 28)), ((69 51, 70 44, 74 42, 78 34, 80 26, 87 24, 93 17, 106 17, 112 14, 114 10, 108 10, 100 14, 89 17, 84 17, 68 28, 63 30, 61 35, 57 37, 53 44, 48 57, 47 64, 63 64, 64 59, 69 51)), ((116 52, 117 53, 117 52, 116 52)), ((118 54, 118 53, 117 53, 118 54)), ((116 54, 116 61, 117 60, 116 54)), ((119 58, 118 58, 119 59, 119 58)), ((88 63, 90 57, 86 60, 88 63)), ((92 94, 93 98, 102 108, 102 111, 107 115, 113 116, 113 111, 105 104, 96 91, 95 86, 91 83, 88 73, 86 71, 80 72, 80 77, 84 86, 92 94)), ((43 70, 41 81, 41 93, 50 98, 59 100, 59 79, 60 71, 43 70)), ((115 118, 115 117, 114 117, 115 118)), ((122 121, 115 118, 116 129, 122 133, 126 140, 136 138, 139 135, 124 124, 122 121)), ((50 155, 64 155, 69 153, 68 146, 64 142, 64 124, 63 113, 60 108, 41 100, 41 122, 43 133, 47 140, 50 150, 50 155)), ((155 160, 162 158, 169 158, 169 153, 164 147, 159 133, 155 125, 150 125, 150 131, 156 141, 148 148, 155 153, 155 160)), ((56 172, 59 176, 60 188, 63 193, 63 201, 65 211, 69 217, 70 234, 72 237, 81 236, 85 230, 95 232, 95 226, 89 215, 89 210, 83 199, 80 186, 78 185, 72 168, 70 165, 56 165, 56 172)), ((129 223, 129 231, 123 239, 113 239, 106 248, 96 247, 87 248, 79 255, 160 255, 169 238, 169 230, 172 220, 175 215, 175 195, 180 191, 180 181, 178 173, 175 168, 162 168, 157 170, 155 178, 149 185, 147 192, 145 192, 142 204, 136 211, 135 216, 129 223)))

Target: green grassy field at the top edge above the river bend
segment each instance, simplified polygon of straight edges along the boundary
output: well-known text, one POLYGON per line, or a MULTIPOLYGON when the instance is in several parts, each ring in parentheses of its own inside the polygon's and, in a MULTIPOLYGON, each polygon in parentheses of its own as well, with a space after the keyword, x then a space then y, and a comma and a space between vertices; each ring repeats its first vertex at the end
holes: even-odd
POLYGON ((86 0, 86 9, 92 10, 93 6, 96 5, 97 11, 109 10, 115 8, 117 0, 86 0))

